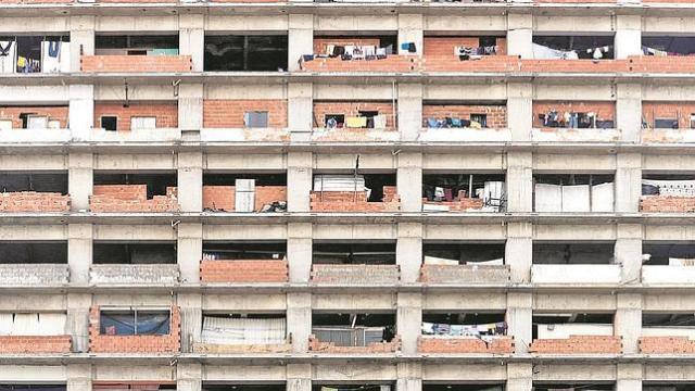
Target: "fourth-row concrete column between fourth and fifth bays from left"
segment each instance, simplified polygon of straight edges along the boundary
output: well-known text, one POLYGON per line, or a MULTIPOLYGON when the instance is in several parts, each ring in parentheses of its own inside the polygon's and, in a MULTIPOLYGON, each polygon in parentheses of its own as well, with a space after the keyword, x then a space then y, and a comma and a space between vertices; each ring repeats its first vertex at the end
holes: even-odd
POLYGON ((401 268, 401 282, 415 283, 422 265, 422 224, 399 223, 395 262, 401 268))

